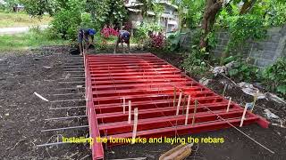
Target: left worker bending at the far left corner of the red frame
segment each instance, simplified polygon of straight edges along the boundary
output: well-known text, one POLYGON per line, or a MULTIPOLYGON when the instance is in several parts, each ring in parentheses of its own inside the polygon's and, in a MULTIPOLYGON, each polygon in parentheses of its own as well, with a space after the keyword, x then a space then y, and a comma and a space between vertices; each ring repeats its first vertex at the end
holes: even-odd
POLYGON ((78 34, 78 42, 80 55, 88 52, 88 47, 90 44, 94 43, 94 35, 96 34, 96 30, 93 28, 88 29, 80 29, 78 34), (89 42, 89 37, 91 38, 91 43, 89 42))

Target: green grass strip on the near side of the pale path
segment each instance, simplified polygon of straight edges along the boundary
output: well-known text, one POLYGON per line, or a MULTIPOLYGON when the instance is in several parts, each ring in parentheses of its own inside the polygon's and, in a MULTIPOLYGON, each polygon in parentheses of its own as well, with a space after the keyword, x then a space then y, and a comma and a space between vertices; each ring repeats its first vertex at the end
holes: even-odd
POLYGON ((30 31, 25 34, 0 36, 0 52, 19 51, 38 48, 44 45, 61 45, 68 43, 67 40, 49 38, 46 31, 30 31))

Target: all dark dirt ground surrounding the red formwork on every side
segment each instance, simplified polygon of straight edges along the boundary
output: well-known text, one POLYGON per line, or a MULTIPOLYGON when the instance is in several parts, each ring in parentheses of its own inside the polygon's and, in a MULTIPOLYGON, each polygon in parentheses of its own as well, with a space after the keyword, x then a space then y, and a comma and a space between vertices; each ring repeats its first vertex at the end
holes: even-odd
MULTIPOLYGON (((53 96, 61 78, 67 76, 64 65, 69 63, 71 55, 68 47, 45 47, 27 52, 0 54, 0 159, 90 159, 88 145, 59 145, 37 148, 36 145, 55 142, 56 135, 87 136, 88 129, 72 130, 72 132, 41 132, 49 128, 63 126, 86 125, 85 118, 69 121, 46 121, 46 118, 57 116, 84 115, 83 109, 50 110, 56 105, 39 99, 38 92, 47 100, 59 100, 53 96)), ((111 52, 109 50, 103 52, 111 52)), ((137 51, 141 52, 141 51, 137 51)), ((157 56, 179 67, 181 56, 178 54, 159 54, 157 56)), ((223 92, 222 77, 214 78, 208 85, 214 92, 223 92)), ((78 91, 75 91, 78 92, 78 91)), ((232 87, 225 96, 239 104, 250 102, 252 98, 240 89, 232 87)), ((66 99, 82 97, 69 96, 66 99)), ((61 99, 62 100, 62 99, 61 99)), ((81 102, 82 103, 82 102, 81 102)), ((80 102, 61 103, 58 106, 80 106, 80 102)), ((286 106, 268 100, 257 100, 254 113, 264 116, 264 109, 270 110, 281 118, 286 118, 286 106)), ((272 121, 272 123, 277 123, 272 121)), ((240 128, 250 137, 257 140, 274 154, 258 146, 233 128, 214 132, 189 134, 192 137, 219 137, 223 144, 196 144, 193 153, 187 159, 207 160, 283 160, 286 159, 286 129, 270 125, 264 129, 257 124, 240 128)), ((176 144, 178 145, 178 144, 176 144)), ((168 149, 176 145, 169 144, 135 144, 105 149, 105 159, 146 157, 158 159, 168 149)))

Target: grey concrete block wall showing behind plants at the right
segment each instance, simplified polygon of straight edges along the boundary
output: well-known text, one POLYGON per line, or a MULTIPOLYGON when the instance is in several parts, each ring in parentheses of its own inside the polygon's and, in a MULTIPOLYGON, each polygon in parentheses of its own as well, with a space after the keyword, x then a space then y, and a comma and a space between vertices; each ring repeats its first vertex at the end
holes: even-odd
MULTIPOLYGON (((182 47, 187 47, 191 41, 191 32, 185 38, 182 47)), ((227 32, 217 33, 217 45, 211 51, 216 57, 220 57, 225 51, 229 42, 229 34, 227 32)), ((270 28, 267 30, 267 36, 261 41, 248 40, 240 48, 237 48, 233 55, 240 54, 244 58, 250 58, 250 62, 259 68, 265 68, 273 64, 280 57, 286 57, 286 25, 284 27, 270 28)))

